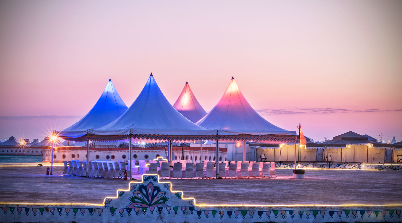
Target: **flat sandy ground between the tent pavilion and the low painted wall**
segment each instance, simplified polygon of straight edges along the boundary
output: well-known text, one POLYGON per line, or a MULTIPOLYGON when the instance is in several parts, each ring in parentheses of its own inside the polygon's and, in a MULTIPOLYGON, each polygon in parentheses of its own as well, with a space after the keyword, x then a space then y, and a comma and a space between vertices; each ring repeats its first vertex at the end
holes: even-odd
MULTIPOLYGON (((0 202, 102 203, 127 189, 128 181, 62 176, 63 168, 0 167, 0 202), (58 174, 58 175, 57 175, 58 174)), ((306 170, 306 179, 289 179, 292 171, 277 169, 280 179, 172 179, 173 190, 184 191, 198 204, 322 204, 402 203, 402 171, 306 170)))

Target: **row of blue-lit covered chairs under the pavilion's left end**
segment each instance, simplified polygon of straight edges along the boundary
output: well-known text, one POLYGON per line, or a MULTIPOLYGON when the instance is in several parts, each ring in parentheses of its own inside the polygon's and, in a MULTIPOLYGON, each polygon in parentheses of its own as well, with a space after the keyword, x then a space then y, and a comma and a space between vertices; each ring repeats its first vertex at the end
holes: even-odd
MULTIPOLYGON (((63 161, 63 175, 86 176, 86 161, 63 161)), ((90 161, 88 165, 88 176, 104 177, 104 178, 119 178, 126 171, 124 161, 90 161)))

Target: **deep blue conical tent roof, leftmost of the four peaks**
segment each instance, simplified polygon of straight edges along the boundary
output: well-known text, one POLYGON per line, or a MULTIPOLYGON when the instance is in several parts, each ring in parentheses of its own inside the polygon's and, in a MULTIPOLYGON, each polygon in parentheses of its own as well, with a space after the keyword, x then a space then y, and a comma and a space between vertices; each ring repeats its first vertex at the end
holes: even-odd
POLYGON ((88 129, 102 127, 115 120, 127 110, 127 105, 121 100, 112 80, 109 79, 105 90, 92 109, 74 125, 59 133, 65 137, 80 137, 85 135, 88 129))

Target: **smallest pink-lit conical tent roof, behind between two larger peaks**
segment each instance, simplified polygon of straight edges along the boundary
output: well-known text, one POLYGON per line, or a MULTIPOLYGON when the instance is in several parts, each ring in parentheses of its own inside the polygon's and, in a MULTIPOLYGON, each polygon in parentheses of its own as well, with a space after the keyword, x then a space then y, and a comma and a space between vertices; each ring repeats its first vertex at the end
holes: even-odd
POLYGON ((207 112, 195 98, 188 82, 184 85, 183 91, 174 102, 173 107, 193 123, 207 115, 207 112))

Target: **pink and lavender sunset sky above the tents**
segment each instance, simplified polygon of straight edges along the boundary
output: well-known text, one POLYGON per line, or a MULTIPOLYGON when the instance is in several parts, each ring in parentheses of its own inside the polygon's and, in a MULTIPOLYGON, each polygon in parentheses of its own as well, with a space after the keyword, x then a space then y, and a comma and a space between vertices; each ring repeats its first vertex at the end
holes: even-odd
POLYGON ((84 116, 109 78, 130 106, 152 72, 208 112, 234 76, 269 122, 316 141, 402 140, 402 2, 0 2, 0 140, 84 116))

